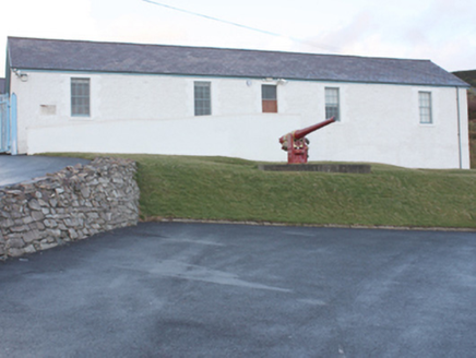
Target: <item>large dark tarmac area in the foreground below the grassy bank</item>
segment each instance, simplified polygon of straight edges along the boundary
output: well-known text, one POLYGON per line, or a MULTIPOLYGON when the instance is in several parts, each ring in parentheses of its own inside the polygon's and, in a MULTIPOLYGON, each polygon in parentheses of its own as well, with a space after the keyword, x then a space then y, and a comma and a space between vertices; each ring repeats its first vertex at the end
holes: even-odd
POLYGON ((474 357, 474 232, 140 224, 0 264, 1 357, 474 357))

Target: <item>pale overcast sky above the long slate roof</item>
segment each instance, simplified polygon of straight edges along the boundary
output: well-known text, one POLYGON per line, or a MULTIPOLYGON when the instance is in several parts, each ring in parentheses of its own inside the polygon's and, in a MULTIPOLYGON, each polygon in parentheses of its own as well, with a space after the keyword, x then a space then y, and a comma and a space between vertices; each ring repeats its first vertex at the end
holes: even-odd
POLYGON ((282 36, 143 0, 10 0, 1 5, 0 47, 22 36, 430 59, 448 71, 476 70, 476 0, 157 2, 282 36))

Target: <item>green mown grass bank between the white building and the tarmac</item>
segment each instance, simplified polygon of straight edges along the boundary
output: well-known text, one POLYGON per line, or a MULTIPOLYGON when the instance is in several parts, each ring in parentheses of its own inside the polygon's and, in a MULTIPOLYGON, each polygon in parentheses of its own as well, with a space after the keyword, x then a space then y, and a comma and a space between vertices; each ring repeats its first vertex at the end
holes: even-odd
POLYGON ((476 227, 476 170, 272 172, 236 158, 121 156, 139 163, 144 219, 476 227))

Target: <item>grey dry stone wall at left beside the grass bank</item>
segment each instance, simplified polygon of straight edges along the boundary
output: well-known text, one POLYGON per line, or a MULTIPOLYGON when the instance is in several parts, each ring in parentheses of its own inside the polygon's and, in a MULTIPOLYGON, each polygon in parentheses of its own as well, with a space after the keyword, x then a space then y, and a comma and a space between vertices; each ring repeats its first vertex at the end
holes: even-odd
POLYGON ((20 256, 136 225, 133 160, 96 158, 0 188, 0 258, 20 256))

